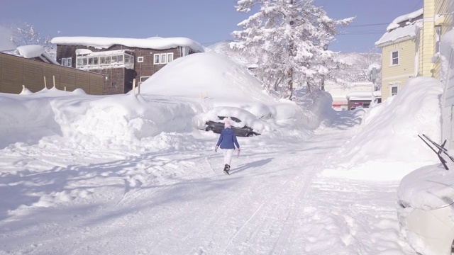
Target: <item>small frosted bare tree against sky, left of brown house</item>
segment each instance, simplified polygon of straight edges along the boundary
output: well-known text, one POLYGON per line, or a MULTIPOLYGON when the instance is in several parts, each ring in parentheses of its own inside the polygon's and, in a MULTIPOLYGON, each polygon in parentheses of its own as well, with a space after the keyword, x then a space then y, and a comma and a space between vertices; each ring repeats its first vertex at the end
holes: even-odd
POLYGON ((41 45, 46 52, 52 52, 55 45, 52 45, 50 36, 41 35, 35 26, 24 22, 17 28, 11 28, 11 42, 16 46, 41 45))

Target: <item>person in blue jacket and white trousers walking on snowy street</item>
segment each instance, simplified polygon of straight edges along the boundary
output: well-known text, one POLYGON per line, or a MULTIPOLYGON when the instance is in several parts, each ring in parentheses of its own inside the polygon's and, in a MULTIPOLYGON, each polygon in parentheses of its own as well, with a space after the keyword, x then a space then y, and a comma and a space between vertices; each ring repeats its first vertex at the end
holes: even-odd
POLYGON ((222 154, 224 155, 224 173, 229 174, 230 164, 232 162, 232 154, 235 150, 235 146, 238 148, 238 156, 240 156, 240 145, 238 140, 236 140, 236 135, 233 130, 231 130, 230 120, 224 121, 224 129, 219 135, 218 143, 214 147, 214 152, 218 152, 218 148, 221 147, 222 154))

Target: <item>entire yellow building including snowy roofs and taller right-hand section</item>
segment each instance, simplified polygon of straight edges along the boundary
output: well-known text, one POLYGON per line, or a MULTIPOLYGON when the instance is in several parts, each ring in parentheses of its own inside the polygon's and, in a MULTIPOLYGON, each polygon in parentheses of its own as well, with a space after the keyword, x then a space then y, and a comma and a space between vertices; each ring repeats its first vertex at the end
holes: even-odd
POLYGON ((411 77, 442 79, 440 42, 453 28, 452 0, 424 0, 423 8, 399 16, 375 42, 382 48, 382 101, 411 77))

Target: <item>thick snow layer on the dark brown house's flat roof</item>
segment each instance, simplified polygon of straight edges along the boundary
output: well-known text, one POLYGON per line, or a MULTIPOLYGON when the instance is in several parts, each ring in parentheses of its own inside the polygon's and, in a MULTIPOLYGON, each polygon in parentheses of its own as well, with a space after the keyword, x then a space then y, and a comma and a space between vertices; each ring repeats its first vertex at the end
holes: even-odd
POLYGON ((97 49, 106 49, 112 45, 125 45, 128 47, 140 47, 145 49, 164 50, 172 47, 190 47, 196 52, 204 52, 199 42, 191 40, 189 38, 145 38, 145 39, 134 39, 134 38, 104 38, 104 37, 85 37, 85 36, 74 36, 74 37, 56 37, 53 38, 52 43, 57 45, 84 45, 92 46, 97 49))

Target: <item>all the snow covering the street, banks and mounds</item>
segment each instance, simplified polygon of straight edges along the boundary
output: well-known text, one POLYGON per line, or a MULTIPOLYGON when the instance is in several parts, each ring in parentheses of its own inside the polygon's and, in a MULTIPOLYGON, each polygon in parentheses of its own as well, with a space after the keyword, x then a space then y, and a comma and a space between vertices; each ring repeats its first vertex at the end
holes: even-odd
POLYGON ((440 171, 417 137, 439 138, 435 80, 336 113, 323 92, 275 100, 209 52, 142 85, 0 94, 0 254, 415 254, 396 192, 416 168, 440 171), (240 137, 231 176, 202 130, 220 106, 270 113, 262 135, 240 137))

